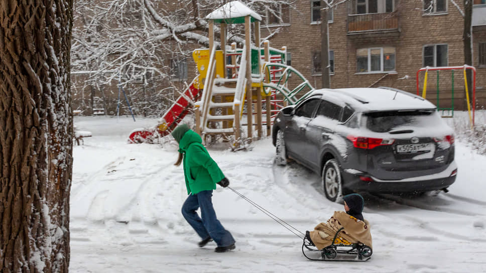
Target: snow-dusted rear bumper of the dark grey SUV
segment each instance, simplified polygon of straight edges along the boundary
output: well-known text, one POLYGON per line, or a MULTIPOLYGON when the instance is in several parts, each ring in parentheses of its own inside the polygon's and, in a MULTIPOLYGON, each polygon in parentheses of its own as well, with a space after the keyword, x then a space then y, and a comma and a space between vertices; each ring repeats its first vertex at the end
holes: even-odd
POLYGON ((451 176, 451 173, 456 169, 455 162, 452 162, 447 169, 440 173, 403 180, 380 180, 354 170, 351 172, 343 171, 342 178, 343 186, 354 191, 377 193, 425 192, 441 190, 452 185, 456 179, 456 174, 451 176), (373 181, 362 181, 361 176, 370 177, 373 181))

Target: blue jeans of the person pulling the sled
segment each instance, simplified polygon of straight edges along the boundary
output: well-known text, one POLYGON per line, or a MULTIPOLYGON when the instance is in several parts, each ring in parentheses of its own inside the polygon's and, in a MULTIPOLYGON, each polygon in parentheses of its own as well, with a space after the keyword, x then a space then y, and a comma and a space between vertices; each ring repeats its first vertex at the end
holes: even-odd
POLYGON ((216 219, 211 196, 212 190, 189 194, 182 205, 182 215, 202 239, 211 236, 218 246, 231 245, 233 236, 216 219), (201 217, 197 215, 198 208, 201 208, 201 217))

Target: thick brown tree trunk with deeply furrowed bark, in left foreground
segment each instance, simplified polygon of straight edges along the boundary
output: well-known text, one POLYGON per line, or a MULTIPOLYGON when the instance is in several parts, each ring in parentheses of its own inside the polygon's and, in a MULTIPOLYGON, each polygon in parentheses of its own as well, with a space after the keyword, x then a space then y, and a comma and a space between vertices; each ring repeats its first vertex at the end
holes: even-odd
POLYGON ((67 272, 72 0, 0 4, 0 266, 67 272))

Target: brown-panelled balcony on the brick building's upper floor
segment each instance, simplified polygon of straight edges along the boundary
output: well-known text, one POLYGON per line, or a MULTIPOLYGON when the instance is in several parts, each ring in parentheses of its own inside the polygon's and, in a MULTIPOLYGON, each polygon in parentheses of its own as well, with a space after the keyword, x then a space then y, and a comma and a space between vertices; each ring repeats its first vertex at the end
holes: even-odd
POLYGON ((399 36, 399 14, 392 13, 355 14, 347 16, 347 35, 377 34, 380 36, 399 36))

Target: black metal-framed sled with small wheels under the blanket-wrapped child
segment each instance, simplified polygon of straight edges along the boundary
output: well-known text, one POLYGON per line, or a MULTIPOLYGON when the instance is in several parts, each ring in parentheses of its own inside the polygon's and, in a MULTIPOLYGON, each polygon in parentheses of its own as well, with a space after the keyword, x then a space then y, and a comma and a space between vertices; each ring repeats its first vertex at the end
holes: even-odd
POLYGON ((302 253, 310 260, 329 260, 329 261, 367 261, 371 258, 373 250, 361 243, 349 243, 338 237, 340 228, 334 235, 333 244, 317 249, 312 242, 304 237, 302 243, 302 253))

